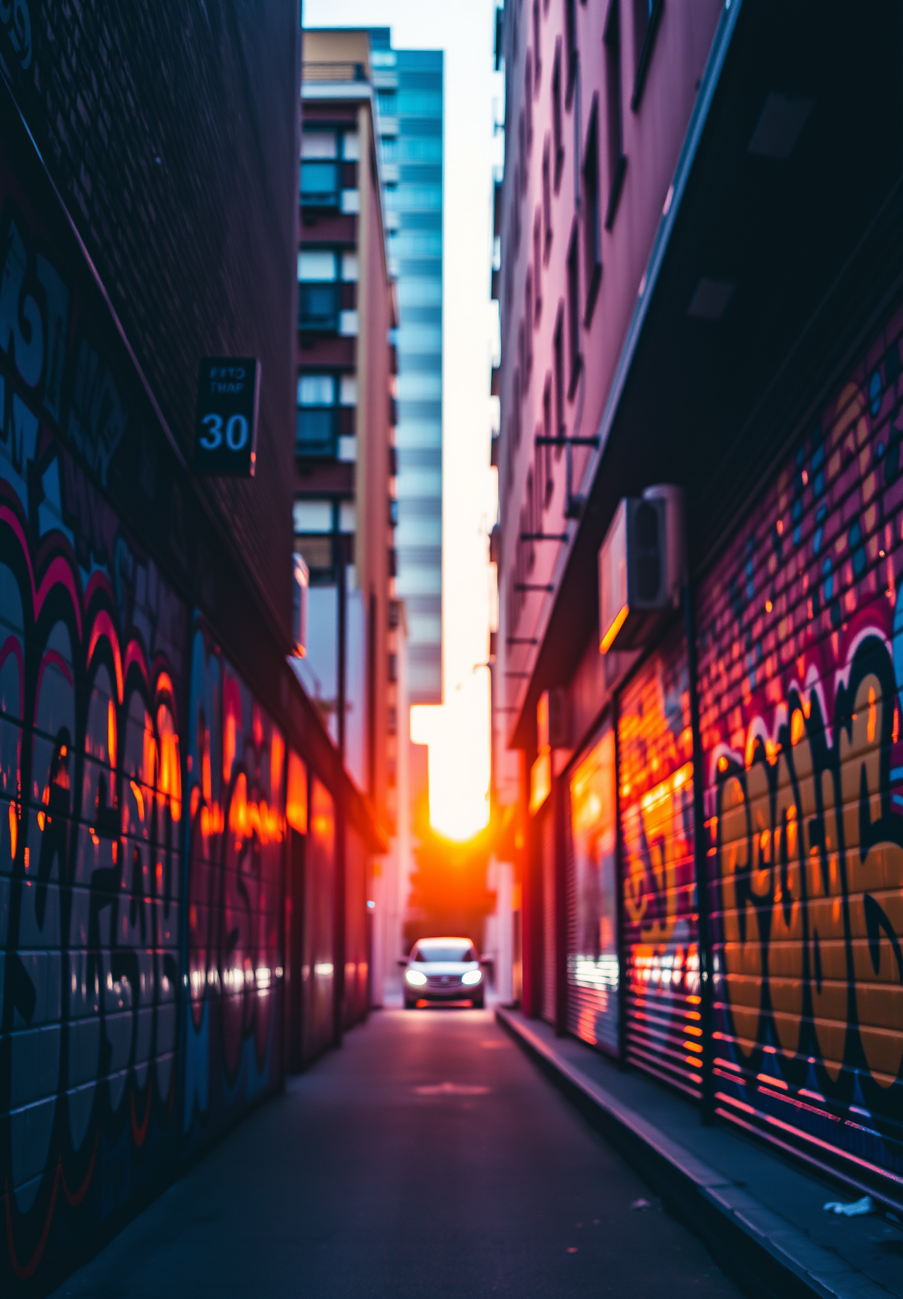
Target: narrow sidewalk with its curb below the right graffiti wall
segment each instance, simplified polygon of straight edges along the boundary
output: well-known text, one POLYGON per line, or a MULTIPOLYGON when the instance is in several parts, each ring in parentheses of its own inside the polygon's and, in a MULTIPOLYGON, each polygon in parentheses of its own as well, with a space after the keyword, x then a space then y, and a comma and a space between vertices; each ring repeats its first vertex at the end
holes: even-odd
POLYGON ((703 1126, 679 1092, 548 1024, 501 1008, 496 1017, 747 1290, 903 1296, 903 1224, 825 1213, 826 1200, 855 1196, 724 1124, 703 1126))

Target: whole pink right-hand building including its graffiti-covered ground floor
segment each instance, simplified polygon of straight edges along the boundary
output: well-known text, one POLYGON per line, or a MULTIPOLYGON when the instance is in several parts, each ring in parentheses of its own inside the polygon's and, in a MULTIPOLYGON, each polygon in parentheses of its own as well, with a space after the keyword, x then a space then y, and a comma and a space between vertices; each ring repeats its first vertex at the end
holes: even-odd
POLYGON ((899 9, 510 0, 500 30, 522 1003, 899 1205, 899 9), (611 604, 628 536, 654 616, 611 604))

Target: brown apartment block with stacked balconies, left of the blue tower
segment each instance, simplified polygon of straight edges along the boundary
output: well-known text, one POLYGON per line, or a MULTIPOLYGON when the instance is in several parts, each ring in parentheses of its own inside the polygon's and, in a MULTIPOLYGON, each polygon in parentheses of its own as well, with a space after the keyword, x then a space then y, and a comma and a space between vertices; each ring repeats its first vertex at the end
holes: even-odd
POLYGON ((370 40, 305 35, 295 551, 309 572, 296 661, 358 788, 397 813, 396 287, 370 40))

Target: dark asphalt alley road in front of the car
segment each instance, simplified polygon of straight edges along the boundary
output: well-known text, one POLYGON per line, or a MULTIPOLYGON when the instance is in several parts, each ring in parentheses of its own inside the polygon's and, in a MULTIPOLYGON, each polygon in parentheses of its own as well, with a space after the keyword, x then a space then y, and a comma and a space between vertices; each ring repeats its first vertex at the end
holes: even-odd
POLYGON ((738 1295, 651 1198, 490 1011, 381 1011, 57 1294, 738 1295))

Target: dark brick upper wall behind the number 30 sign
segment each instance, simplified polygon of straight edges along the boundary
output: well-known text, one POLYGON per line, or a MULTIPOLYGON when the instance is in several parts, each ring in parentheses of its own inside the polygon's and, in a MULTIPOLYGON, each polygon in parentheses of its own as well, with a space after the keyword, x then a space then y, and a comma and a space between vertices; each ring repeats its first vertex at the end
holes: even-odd
POLYGON ((186 460, 199 359, 262 361, 257 477, 201 491, 287 627, 298 5, 23 8, 3 68, 186 460))

